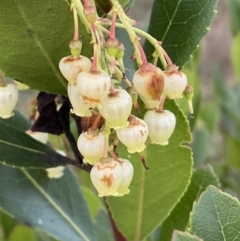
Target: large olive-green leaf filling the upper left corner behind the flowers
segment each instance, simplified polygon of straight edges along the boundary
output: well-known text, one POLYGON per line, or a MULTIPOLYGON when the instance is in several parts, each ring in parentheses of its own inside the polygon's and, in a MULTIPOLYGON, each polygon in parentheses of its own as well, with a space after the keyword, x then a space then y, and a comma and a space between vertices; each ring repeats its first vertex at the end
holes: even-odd
MULTIPOLYGON (((33 89, 66 94, 58 63, 70 55, 73 18, 68 1, 2 0, 0 9, 0 68, 5 75, 33 89)), ((90 36, 82 25, 80 29, 83 54, 89 55, 90 36)))

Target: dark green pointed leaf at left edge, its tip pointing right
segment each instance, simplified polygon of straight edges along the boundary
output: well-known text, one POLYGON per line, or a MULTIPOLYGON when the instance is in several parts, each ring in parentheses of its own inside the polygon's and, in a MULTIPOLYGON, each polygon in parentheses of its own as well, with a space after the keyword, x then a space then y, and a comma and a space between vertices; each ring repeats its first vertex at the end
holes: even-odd
POLYGON ((28 122, 17 114, 10 121, 0 119, 0 163, 27 168, 47 168, 72 161, 25 132, 28 122))

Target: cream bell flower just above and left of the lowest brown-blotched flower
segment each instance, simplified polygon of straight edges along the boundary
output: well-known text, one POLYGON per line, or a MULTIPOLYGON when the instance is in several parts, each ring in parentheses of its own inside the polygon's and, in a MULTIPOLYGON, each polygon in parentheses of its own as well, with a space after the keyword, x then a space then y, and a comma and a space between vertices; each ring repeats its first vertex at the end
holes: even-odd
POLYGON ((79 136, 77 146, 84 157, 83 162, 94 165, 103 156, 104 135, 98 129, 90 128, 79 136))

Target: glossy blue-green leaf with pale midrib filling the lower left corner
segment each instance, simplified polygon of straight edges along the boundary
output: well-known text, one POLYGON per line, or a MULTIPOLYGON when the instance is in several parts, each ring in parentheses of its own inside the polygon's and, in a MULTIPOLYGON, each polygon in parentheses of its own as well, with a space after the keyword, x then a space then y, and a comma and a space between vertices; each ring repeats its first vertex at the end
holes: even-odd
POLYGON ((44 170, 1 165, 0 207, 62 241, 95 240, 86 201, 69 168, 50 180, 44 170))

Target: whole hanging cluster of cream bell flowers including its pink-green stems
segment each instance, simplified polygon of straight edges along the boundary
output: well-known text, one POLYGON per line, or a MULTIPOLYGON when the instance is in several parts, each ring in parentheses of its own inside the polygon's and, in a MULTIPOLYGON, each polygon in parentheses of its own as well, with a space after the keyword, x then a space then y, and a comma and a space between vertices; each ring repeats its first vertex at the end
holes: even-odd
POLYGON ((168 145, 176 127, 174 113, 164 109, 165 100, 185 96, 193 114, 193 89, 186 75, 172 63, 161 42, 135 28, 135 21, 125 14, 117 0, 110 2, 111 11, 107 17, 100 18, 91 1, 72 0, 71 54, 60 60, 59 69, 68 81, 71 113, 81 118, 94 118, 92 126, 77 140, 83 162, 92 166, 92 183, 99 196, 122 196, 130 191, 134 169, 131 160, 116 154, 111 141, 115 144, 120 141, 129 153, 138 153, 145 166, 147 142, 168 145), (79 19, 92 37, 91 59, 81 55, 84 46, 79 39, 79 19), (126 78, 125 47, 116 37, 116 28, 124 28, 134 46, 133 61, 138 67, 132 80, 126 78), (146 58, 140 36, 153 45, 153 61, 146 58), (157 65, 159 60, 162 68, 157 65), (145 105, 144 115, 140 113, 139 99, 145 105), (104 119, 101 125, 100 119, 104 119))

